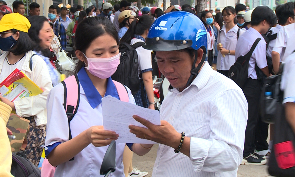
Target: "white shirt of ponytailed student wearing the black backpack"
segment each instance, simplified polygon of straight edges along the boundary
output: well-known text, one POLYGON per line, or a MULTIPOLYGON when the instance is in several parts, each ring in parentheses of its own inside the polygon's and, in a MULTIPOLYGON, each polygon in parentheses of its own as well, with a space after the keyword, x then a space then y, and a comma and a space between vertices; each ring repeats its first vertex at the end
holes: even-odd
MULTIPOLYGON (((131 39, 130 45, 135 44, 136 42, 144 42, 141 39, 133 38, 131 39)), ((151 65, 151 50, 144 49, 142 46, 136 48, 137 57, 138 57, 138 77, 140 73, 144 73, 147 71, 152 71, 153 67, 151 65)), ((139 77, 140 78, 140 77, 139 77)))

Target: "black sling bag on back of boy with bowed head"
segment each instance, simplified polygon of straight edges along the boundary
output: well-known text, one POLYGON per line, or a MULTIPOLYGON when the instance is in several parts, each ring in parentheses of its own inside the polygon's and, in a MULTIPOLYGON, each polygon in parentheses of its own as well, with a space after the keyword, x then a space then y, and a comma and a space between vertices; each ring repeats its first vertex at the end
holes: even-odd
POLYGON ((246 55, 238 57, 234 65, 230 67, 230 70, 229 70, 230 79, 233 80, 241 88, 244 87, 247 81, 249 61, 254 49, 256 48, 260 40, 261 38, 257 38, 254 44, 252 45, 250 51, 246 53, 246 55))

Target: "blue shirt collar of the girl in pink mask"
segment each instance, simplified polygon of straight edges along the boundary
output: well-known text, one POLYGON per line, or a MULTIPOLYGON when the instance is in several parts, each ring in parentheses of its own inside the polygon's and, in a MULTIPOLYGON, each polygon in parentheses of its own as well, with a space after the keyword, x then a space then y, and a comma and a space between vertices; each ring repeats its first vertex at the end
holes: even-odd
MULTIPOLYGON (((100 96, 100 93, 97 91, 94 85, 92 84, 92 81, 90 80, 88 74, 86 73, 84 66, 78 72, 78 79, 80 84, 82 85, 82 88, 85 92, 86 98, 90 106, 93 109, 96 108, 101 103, 102 97, 100 96)), ((120 100, 116 86, 113 83, 111 77, 108 78, 107 90, 105 92, 105 96, 108 96, 108 95, 113 96, 120 100)))

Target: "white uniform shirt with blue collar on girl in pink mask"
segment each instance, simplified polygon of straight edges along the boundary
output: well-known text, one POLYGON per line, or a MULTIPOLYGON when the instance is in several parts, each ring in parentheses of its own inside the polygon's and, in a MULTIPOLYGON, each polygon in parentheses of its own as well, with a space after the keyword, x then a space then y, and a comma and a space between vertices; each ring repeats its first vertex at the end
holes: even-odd
MULTIPOLYGON (((100 93, 96 90, 92 81, 88 77, 84 67, 79 71, 80 82, 80 104, 76 115, 70 122, 72 137, 76 137, 81 132, 91 126, 103 125, 102 105, 100 93)), ((135 104, 130 89, 128 89, 129 103, 135 104)), ((113 96, 119 99, 116 86, 111 77, 108 78, 105 96, 113 96)), ((55 86, 49 93, 47 99, 48 122, 45 139, 45 154, 48 155, 57 145, 69 140, 69 124, 64 109, 64 87, 62 84, 55 86)), ((123 151, 125 144, 116 145, 116 171, 113 177, 125 177, 123 173, 123 151)), ((54 176, 104 176, 100 175, 100 165, 108 146, 95 147, 89 144, 79 152, 74 160, 67 161, 57 166, 54 176)))

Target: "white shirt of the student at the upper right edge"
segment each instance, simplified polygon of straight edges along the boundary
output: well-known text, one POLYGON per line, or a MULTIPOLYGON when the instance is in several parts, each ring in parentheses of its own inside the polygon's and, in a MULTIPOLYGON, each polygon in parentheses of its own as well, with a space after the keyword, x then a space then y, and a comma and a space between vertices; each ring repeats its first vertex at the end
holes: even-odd
POLYGON ((284 62, 285 59, 295 50, 294 38, 295 23, 283 26, 281 31, 277 34, 277 40, 273 47, 273 51, 280 53, 282 62, 284 62))

